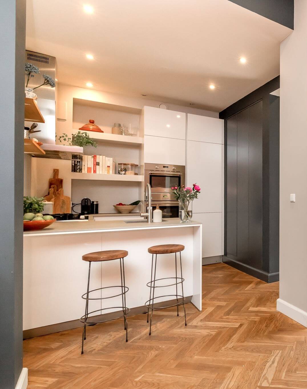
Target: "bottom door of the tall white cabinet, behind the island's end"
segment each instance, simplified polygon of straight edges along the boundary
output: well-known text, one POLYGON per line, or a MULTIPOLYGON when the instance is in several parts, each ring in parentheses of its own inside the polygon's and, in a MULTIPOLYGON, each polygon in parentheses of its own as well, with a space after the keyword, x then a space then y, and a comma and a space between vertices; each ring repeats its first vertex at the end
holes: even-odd
MULTIPOLYGON (((193 208, 194 204, 193 203, 193 208)), ((193 220, 202 223, 202 258, 223 255, 223 217, 222 213, 193 212, 193 220)))

